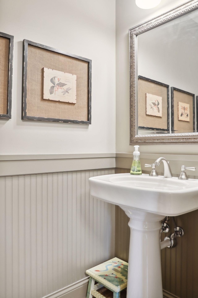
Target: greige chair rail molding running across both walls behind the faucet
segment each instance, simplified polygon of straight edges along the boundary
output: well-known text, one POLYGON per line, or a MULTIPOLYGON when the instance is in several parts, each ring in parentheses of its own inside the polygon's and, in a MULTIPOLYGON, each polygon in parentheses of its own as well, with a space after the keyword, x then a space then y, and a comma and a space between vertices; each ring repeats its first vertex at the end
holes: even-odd
MULTIPOLYGON (((140 162, 152 164, 163 156, 170 161, 172 173, 179 174, 181 165, 196 167, 194 175, 198 175, 198 155, 179 154, 142 154, 140 162)), ((88 169, 131 169, 132 153, 84 153, 84 154, 32 154, 32 155, 0 155, 0 177, 80 171, 88 169)), ((162 172, 162 165, 157 168, 162 172)))

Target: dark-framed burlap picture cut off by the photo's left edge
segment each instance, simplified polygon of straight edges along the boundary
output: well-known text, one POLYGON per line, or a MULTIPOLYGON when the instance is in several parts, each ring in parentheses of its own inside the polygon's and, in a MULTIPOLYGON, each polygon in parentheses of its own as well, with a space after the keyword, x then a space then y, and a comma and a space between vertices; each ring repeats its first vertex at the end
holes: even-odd
POLYGON ((14 36, 0 32, 0 118, 11 118, 14 36))

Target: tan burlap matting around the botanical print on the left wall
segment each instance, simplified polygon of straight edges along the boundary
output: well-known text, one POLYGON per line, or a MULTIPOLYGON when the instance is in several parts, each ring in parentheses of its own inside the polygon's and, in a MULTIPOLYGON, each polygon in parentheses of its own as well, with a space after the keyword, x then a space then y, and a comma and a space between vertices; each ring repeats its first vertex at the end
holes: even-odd
POLYGON ((88 120, 88 62, 28 45, 27 116, 88 120), (43 68, 77 76, 76 104, 43 99, 43 68))

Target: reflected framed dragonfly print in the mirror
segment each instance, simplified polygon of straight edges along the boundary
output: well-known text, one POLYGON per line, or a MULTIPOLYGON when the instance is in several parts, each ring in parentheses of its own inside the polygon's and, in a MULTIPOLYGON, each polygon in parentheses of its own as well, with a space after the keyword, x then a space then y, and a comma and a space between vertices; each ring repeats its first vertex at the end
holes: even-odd
POLYGON ((171 132, 195 132, 195 94, 171 87, 171 132))

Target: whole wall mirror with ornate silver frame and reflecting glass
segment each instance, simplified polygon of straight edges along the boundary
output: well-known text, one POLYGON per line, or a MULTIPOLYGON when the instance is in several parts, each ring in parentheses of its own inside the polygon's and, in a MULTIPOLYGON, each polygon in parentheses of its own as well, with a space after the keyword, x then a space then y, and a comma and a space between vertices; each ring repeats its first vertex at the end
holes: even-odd
POLYGON ((130 144, 198 142, 198 1, 129 30, 130 144))

